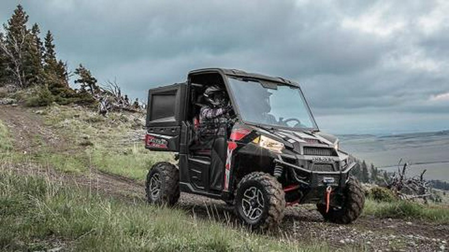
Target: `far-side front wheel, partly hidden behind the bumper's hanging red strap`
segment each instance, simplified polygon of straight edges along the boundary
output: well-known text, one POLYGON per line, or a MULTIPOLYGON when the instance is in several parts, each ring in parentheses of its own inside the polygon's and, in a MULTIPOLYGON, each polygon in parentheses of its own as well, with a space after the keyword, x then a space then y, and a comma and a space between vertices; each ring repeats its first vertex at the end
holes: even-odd
POLYGON ((360 216, 364 204, 365 194, 362 186, 356 178, 350 177, 343 190, 341 207, 330 207, 327 213, 326 205, 318 203, 317 208, 325 220, 339 224, 349 224, 360 216))

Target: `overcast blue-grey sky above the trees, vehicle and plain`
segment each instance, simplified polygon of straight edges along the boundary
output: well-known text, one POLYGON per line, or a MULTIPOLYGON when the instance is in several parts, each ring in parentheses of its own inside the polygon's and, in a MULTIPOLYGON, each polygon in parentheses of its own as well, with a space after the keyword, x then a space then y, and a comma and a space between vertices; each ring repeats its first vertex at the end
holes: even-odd
POLYGON ((299 82, 322 130, 449 129, 449 1, 2 0, 131 97, 202 67, 299 82))

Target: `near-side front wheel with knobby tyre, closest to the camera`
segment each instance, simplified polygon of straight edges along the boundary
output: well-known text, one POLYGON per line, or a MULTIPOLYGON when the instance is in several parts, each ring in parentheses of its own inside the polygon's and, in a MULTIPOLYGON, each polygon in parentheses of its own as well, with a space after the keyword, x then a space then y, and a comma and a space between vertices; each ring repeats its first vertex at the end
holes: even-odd
POLYGON ((238 183, 234 203, 238 217, 252 229, 275 227, 284 217, 282 185, 263 172, 252 172, 238 183))

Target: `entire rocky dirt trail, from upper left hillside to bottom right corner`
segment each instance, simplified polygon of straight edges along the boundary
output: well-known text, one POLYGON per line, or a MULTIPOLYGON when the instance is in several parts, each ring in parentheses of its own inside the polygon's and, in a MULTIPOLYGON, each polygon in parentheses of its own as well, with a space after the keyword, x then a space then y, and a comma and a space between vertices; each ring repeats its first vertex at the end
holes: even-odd
MULTIPOLYGON (((43 139, 46 146, 55 150, 70 151, 72 147, 70 139, 64 139, 56 129, 45 126, 42 118, 32 109, 0 106, 0 120, 13 135, 15 150, 24 154, 33 153, 42 147, 38 141, 31 140, 36 135, 43 139)), ((84 175, 70 175, 42 167, 33 171, 29 169, 29 166, 17 167, 18 172, 51 174, 57 179, 125 200, 144 200, 142 184, 98 171, 95 167, 90 167, 89 172, 84 175)), ((213 218, 224 223, 238 223, 232 209, 221 201, 183 193, 179 207, 197 217, 213 218)), ((369 216, 361 217, 351 225, 336 225, 324 222, 316 210, 302 206, 287 208, 278 232, 272 235, 288 236, 306 243, 318 239, 329 243, 335 250, 344 250, 348 245, 361 244, 369 251, 444 251, 446 242, 449 242, 449 225, 369 216)))

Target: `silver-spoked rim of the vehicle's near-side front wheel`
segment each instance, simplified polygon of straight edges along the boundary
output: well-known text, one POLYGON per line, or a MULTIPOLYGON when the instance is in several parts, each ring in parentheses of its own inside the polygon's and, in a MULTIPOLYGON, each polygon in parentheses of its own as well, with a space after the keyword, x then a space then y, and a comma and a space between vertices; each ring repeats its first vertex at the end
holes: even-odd
POLYGON ((243 193, 241 209, 243 214, 251 221, 259 218, 263 213, 263 193, 255 186, 249 187, 243 193))

